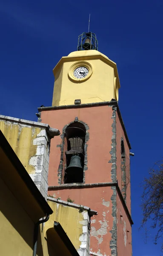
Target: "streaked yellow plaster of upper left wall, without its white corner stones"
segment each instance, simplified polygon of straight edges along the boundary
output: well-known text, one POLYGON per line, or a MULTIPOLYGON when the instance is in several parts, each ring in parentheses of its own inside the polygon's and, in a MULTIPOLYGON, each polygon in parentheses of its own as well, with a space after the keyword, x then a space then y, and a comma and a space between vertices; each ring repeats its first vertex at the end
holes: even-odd
POLYGON ((34 173, 34 166, 29 165, 29 160, 36 154, 37 145, 33 145, 33 140, 40 133, 41 128, 34 126, 25 127, 21 124, 0 120, 0 130, 17 154, 17 157, 19 157, 26 171, 29 174, 34 173))

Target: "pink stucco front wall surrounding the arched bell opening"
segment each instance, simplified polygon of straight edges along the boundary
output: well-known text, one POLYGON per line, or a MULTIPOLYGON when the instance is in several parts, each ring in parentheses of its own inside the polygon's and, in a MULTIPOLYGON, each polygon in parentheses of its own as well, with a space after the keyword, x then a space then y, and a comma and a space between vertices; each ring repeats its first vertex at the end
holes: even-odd
MULTIPOLYGON (((85 172, 86 183, 112 182, 110 170, 112 163, 109 152, 112 143, 112 108, 108 106, 95 108, 63 109, 57 111, 43 111, 42 122, 57 128, 62 134, 63 127, 73 122, 75 116, 89 126, 88 170, 85 172)), ((60 136, 51 139, 49 160, 49 186, 58 185, 58 166, 60 164, 60 136)))

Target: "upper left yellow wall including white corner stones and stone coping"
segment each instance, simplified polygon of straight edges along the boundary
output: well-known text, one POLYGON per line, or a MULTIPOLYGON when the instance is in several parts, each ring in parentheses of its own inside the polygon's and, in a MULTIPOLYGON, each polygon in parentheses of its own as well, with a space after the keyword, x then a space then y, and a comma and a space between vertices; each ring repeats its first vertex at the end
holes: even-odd
MULTIPOLYGON (((47 198, 50 139, 54 137, 49 125, 0 115, 0 130, 47 198)), ((59 131, 55 130, 55 133, 59 135, 59 131)))

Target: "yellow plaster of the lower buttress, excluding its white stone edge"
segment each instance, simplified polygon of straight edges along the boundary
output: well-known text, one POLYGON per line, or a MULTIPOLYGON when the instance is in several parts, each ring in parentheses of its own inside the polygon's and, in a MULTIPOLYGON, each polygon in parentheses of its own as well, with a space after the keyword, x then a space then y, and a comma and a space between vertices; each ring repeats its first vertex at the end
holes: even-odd
POLYGON ((54 226, 54 221, 57 221, 63 227, 75 249, 79 249, 81 244, 79 238, 82 235, 83 227, 82 213, 77 208, 57 204, 52 201, 48 201, 48 204, 53 210, 53 213, 50 215, 49 221, 45 223, 45 235, 46 231, 54 226))

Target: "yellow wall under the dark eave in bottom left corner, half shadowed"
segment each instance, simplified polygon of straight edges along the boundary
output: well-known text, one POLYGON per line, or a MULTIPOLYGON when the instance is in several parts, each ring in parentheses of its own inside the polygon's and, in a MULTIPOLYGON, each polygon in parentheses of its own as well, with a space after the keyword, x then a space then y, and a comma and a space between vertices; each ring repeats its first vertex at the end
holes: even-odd
POLYGON ((0 255, 32 255, 34 223, 0 178, 0 255))

